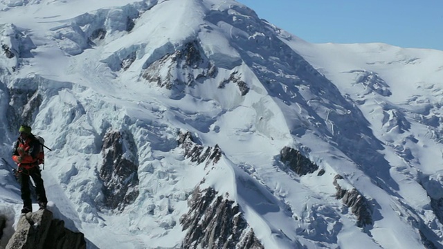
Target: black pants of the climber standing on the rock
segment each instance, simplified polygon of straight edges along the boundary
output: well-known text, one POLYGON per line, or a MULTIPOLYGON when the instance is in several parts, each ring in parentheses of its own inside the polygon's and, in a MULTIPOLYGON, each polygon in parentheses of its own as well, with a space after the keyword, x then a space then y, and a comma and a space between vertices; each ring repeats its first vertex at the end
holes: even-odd
POLYGON ((21 199, 23 200, 23 208, 33 210, 33 202, 30 199, 30 178, 33 178, 35 183, 37 201, 39 203, 47 203, 48 199, 46 199, 46 192, 44 190, 40 167, 35 166, 30 169, 19 168, 19 181, 21 185, 21 199))

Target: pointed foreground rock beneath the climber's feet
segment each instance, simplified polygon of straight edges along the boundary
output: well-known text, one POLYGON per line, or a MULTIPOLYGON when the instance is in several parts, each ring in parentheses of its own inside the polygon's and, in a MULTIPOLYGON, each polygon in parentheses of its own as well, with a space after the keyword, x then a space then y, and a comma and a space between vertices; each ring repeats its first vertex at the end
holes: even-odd
POLYGON ((64 222, 53 219, 49 210, 33 212, 28 219, 21 216, 17 230, 6 249, 85 249, 86 241, 81 232, 64 228, 64 222))

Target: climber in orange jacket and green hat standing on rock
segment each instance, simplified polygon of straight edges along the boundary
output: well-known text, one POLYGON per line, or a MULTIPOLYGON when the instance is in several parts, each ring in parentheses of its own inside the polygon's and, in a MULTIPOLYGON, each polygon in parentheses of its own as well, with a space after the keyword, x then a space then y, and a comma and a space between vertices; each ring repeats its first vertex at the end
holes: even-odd
POLYGON ((33 212, 30 199, 30 178, 33 178, 37 192, 37 201, 40 209, 45 209, 48 199, 44 190, 42 174, 40 172, 37 156, 40 151, 40 143, 31 133, 31 127, 22 125, 19 129, 19 138, 14 143, 12 160, 17 163, 18 180, 21 187, 21 199, 23 200, 22 214, 33 212))

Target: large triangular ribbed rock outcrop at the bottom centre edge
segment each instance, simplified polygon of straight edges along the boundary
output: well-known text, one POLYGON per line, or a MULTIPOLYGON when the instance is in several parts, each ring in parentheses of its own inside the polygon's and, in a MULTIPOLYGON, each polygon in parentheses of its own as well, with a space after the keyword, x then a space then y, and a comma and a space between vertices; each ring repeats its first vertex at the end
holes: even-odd
POLYGON ((188 214, 180 219, 183 230, 188 230, 181 248, 264 248, 239 206, 212 188, 197 187, 188 205, 188 214))

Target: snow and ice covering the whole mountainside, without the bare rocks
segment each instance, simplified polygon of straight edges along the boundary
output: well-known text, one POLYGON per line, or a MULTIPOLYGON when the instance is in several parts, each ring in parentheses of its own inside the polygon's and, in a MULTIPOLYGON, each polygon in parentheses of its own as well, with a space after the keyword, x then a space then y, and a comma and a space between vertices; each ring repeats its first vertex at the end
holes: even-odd
POLYGON ((28 121, 53 149, 43 171, 49 208, 90 248, 180 247, 179 219, 199 184, 238 203, 265 248, 443 246, 441 207, 431 205, 443 197, 443 51, 309 44, 235 1, 0 0, 0 10, 9 226, 21 209, 10 148, 28 121), (217 68, 213 77, 168 71, 168 55, 186 44, 217 68), (27 91, 41 95, 33 113, 21 104, 35 96, 12 98, 27 91), (136 145, 139 195, 122 212, 100 208, 109 130, 132 133, 136 145), (221 160, 190 162, 179 131, 218 145, 221 160), (279 160, 285 146, 318 171, 291 172, 279 160), (372 224, 359 228, 336 199, 336 175, 368 200, 372 224))

